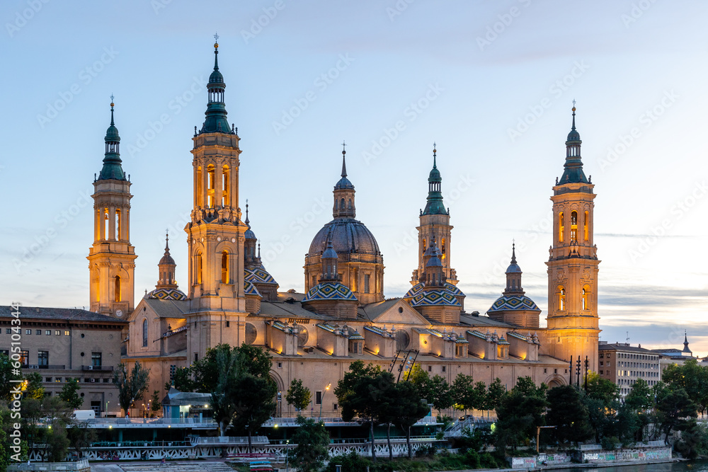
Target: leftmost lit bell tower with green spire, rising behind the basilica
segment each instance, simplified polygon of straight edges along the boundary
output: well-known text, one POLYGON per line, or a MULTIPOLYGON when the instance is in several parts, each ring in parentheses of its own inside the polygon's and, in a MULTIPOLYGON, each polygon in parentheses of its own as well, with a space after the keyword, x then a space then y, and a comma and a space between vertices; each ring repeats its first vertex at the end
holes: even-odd
POLYGON ((134 308, 135 248, 130 244, 130 181, 120 161, 120 136, 113 122, 105 132, 105 156, 93 179, 93 245, 89 249, 91 311, 125 318, 134 308))

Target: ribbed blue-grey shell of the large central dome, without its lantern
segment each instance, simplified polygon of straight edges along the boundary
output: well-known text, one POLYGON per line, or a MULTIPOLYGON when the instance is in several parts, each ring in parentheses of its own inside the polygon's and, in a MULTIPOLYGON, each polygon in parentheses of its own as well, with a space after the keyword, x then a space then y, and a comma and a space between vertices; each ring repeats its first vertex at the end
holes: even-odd
POLYGON ((329 234, 331 234, 332 246, 338 254, 381 255, 379 245, 371 231, 361 221, 353 218, 333 219, 324 225, 312 239, 308 255, 322 253, 329 234))

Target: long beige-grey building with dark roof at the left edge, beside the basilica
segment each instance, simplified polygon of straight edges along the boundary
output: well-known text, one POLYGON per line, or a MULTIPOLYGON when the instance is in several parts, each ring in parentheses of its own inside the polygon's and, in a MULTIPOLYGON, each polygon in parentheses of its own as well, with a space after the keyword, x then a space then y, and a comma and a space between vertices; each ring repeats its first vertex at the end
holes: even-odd
POLYGON ((96 416, 118 413, 113 371, 120 364, 126 321, 84 309, 20 306, 17 326, 13 311, 0 306, 0 351, 11 355, 11 343, 19 335, 23 374, 39 372, 50 396, 62 391, 69 379, 77 379, 82 409, 95 410, 96 416))

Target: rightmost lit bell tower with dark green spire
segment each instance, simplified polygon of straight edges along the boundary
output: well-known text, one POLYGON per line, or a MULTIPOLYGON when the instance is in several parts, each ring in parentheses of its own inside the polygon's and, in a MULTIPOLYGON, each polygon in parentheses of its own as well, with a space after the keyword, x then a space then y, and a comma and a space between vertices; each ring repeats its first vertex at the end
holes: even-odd
POLYGON ((580 133, 573 125, 566 141, 566 162, 553 187, 553 241, 549 249, 547 344, 560 359, 584 361, 597 371, 598 247, 593 241, 595 193, 583 172, 580 133))

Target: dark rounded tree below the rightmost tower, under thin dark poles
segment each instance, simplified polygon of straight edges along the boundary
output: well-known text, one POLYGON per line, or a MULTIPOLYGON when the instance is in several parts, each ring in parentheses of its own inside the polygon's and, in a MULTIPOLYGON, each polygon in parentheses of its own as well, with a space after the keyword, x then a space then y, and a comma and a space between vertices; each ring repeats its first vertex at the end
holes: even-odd
POLYGON ((548 425, 555 426, 556 439, 559 442, 585 441, 593 436, 590 427, 588 408, 581 401, 581 394, 571 385, 551 388, 546 396, 549 410, 546 413, 548 425))

